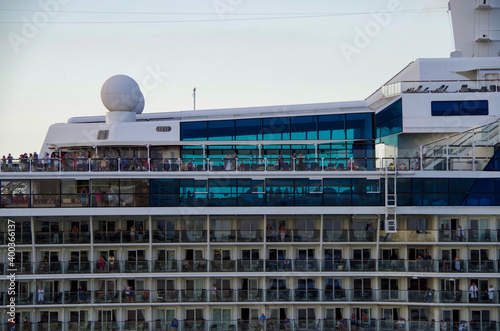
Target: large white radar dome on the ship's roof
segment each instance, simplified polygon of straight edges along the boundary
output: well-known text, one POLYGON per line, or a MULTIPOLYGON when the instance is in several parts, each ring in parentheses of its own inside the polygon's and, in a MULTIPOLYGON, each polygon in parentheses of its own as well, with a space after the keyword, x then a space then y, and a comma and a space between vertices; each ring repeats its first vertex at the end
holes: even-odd
POLYGON ((125 75, 108 78, 101 89, 102 103, 109 111, 135 111, 141 96, 136 81, 125 75))

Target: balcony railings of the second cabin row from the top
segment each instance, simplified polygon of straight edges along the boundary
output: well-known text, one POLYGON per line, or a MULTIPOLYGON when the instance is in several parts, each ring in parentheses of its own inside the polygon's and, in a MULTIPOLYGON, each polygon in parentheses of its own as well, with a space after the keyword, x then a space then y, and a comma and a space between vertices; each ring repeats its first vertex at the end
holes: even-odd
MULTIPOLYGON (((8 273, 9 266, 0 270, 8 273)), ((445 272, 497 273, 500 261, 477 260, 168 260, 16 263, 18 274, 101 274, 150 272, 445 272)))

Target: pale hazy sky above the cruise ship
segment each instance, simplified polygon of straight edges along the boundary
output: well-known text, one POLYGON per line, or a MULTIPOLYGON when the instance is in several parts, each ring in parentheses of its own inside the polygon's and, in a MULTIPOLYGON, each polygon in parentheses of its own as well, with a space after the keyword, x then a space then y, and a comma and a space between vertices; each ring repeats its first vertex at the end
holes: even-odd
POLYGON ((2 0, 0 156, 104 115, 111 76, 144 113, 367 98, 454 49, 447 0, 2 0))

